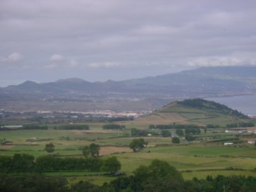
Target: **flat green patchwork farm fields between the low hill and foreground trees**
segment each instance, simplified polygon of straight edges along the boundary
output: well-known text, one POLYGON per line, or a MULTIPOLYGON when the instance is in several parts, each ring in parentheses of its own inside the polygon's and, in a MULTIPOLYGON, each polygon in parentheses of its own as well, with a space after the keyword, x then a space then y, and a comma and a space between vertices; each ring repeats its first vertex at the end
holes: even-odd
MULTIPOLYGON (((134 127, 131 125, 131 127, 134 127)), ((143 128, 145 129, 145 128, 143 128)), ((158 130, 155 130, 156 132, 158 130)), ((174 132, 174 130, 170 130, 174 132)), ((170 137, 148 136, 148 147, 141 152, 132 152, 128 144, 134 138, 128 137, 130 130, 102 130, 95 126, 91 130, 12 130, 1 131, 1 139, 12 143, 0 145, 0 155, 12 156, 16 153, 32 154, 35 157, 46 155, 46 143, 54 143, 54 154, 59 156, 82 157, 82 147, 91 143, 101 146, 101 158, 117 156, 121 162, 121 172, 132 174, 139 165, 150 165, 154 159, 165 160, 179 171, 185 179, 193 177, 205 178, 207 175, 222 174, 256 176, 256 149, 254 145, 243 143, 235 146, 224 146, 222 143, 208 143, 214 139, 234 138, 224 130, 201 131, 198 141, 187 143, 181 139, 181 144, 172 144, 170 137), (35 141, 27 141, 35 139, 35 141), (232 169, 230 168, 232 167, 232 169)), ((241 137, 240 139, 248 139, 241 137)), ((254 139, 254 136, 251 136, 254 139)), ((100 172, 102 175, 104 172, 100 172)), ((89 180, 95 184, 102 184, 115 179, 110 176, 95 176, 97 173, 86 171, 60 171, 45 173, 47 176, 65 176, 70 183, 78 180, 89 180)))

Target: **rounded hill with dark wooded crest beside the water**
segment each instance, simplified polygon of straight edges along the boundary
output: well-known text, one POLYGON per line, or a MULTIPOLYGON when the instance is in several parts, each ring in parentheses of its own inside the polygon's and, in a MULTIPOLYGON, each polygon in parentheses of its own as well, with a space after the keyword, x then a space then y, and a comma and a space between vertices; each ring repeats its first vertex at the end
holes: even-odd
POLYGON ((186 99, 174 101, 156 110, 152 115, 135 119, 135 124, 197 124, 226 125, 240 121, 250 121, 250 118, 237 110, 205 99, 186 99))

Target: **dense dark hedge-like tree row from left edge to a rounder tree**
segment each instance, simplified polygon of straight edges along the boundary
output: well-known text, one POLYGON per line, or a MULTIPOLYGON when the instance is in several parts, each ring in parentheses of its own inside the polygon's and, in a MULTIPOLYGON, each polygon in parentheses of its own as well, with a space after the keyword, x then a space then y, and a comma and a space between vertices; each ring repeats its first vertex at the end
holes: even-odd
MULTIPOLYGON (((99 171, 104 164, 100 158, 60 158, 54 155, 34 156, 29 154, 14 154, 14 156, 0 156, 0 170, 2 173, 17 172, 45 172, 63 170, 99 171)), ((1 190, 0 190, 1 191, 1 190)))

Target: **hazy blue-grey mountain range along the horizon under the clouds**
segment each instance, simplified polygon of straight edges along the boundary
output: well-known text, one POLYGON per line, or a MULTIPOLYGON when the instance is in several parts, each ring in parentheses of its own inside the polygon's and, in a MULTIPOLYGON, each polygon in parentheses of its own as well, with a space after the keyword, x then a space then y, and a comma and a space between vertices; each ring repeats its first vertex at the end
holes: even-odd
POLYGON ((45 93, 51 95, 132 93, 203 97, 256 92, 256 67, 204 67, 156 77, 106 82, 86 82, 78 78, 49 83, 24 82, 1 88, 3 93, 45 93))

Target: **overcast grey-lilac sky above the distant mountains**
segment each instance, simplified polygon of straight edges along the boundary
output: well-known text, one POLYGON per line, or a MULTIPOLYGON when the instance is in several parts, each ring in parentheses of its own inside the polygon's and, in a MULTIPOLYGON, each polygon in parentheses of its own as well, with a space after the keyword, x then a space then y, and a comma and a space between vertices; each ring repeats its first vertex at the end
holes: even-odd
POLYGON ((255 0, 1 0, 0 86, 256 65, 255 0))

